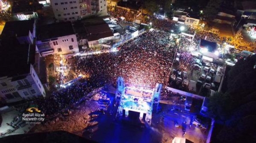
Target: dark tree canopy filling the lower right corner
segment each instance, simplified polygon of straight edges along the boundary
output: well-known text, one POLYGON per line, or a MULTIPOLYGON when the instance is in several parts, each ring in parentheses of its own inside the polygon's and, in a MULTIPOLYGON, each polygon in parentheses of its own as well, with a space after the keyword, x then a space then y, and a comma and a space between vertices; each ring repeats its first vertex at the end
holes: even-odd
POLYGON ((228 90, 210 97, 209 114, 224 127, 221 142, 256 142, 256 55, 238 60, 228 72, 228 90), (220 122, 219 122, 220 123, 220 122))

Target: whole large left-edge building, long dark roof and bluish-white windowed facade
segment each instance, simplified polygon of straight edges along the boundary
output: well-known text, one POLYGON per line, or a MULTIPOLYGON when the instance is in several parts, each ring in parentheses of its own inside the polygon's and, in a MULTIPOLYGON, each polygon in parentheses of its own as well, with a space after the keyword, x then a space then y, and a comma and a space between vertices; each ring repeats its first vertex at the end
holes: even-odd
POLYGON ((9 21, 0 45, 0 101, 11 103, 46 96, 34 69, 35 20, 9 21))

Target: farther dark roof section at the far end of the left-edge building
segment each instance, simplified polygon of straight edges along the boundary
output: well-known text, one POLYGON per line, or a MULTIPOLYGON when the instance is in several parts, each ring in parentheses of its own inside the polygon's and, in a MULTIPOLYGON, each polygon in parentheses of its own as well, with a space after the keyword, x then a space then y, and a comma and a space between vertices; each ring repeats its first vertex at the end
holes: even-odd
POLYGON ((1 38, 28 36, 28 32, 33 33, 35 20, 7 21, 3 28, 1 38))

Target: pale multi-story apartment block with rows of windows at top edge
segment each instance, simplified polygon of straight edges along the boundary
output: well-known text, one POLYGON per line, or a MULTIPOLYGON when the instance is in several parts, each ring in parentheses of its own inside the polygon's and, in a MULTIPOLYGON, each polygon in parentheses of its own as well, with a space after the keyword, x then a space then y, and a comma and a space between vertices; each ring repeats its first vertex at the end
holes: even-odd
POLYGON ((107 14, 106 0, 51 0, 51 4, 55 18, 59 21, 107 14))

